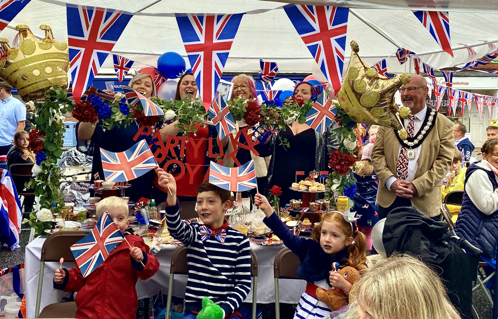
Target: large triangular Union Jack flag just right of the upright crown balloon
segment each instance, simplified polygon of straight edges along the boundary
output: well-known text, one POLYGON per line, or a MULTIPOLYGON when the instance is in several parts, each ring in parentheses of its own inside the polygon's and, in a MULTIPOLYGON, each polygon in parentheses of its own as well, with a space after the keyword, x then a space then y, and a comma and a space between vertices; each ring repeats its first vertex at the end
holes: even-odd
POLYGON ((69 3, 66 7, 73 98, 79 103, 132 14, 69 3))

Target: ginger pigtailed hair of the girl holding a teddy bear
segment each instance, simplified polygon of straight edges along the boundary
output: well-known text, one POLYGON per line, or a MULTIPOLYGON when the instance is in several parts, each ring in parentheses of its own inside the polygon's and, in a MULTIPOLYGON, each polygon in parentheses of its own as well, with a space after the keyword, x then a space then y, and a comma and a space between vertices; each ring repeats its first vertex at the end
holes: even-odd
POLYGON ((320 242, 322 234, 323 222, 332 222, 336 224, 346 235, 346 237, 353 237, 354 243, 348 246, 349 259, 346 266, 353 268, 362 268, 367 263, 367 237, 356 230, 354 223, 347 222, 344 219, 344 214, 340 211, 331 211, 323 213, 320 226, 313 228, 311 238, 320 242))

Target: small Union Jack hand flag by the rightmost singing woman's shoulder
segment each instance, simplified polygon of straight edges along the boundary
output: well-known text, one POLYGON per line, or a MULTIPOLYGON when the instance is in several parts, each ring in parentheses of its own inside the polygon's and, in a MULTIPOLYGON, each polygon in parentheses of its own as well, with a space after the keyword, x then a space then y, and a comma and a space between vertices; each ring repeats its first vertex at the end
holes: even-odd
POLYGON ((325 130, 334 121, 337 114, 337 109, 332 99, 322 92, 311 110, 306 114, 306 124, 320 134, 325 133, 325 130))

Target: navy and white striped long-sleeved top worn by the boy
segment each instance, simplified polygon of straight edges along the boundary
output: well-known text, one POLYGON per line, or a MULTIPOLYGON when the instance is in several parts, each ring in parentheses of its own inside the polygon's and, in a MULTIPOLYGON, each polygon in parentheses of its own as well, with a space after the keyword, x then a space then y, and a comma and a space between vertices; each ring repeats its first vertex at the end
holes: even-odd
POLYGON ((199 224, 187 225, 181 221, 178 202, 166 206, 166 224, 171 236, 187 248, 185 313, 200 311, 202 299, 209 297, 230 316, 250 291, 249 239, 225 222, 222 227, 226 228, 225 243, 214 237, 202 241, 199 224))

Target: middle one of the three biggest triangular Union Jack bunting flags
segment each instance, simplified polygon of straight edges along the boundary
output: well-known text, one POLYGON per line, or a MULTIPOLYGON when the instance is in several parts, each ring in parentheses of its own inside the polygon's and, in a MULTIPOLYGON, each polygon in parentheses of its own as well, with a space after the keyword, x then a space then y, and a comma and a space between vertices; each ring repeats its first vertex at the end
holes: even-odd
POLYGON ((185 51, 204 103, 213 101, 243 15, 176 15, 185 51))

